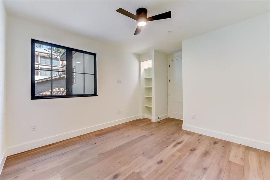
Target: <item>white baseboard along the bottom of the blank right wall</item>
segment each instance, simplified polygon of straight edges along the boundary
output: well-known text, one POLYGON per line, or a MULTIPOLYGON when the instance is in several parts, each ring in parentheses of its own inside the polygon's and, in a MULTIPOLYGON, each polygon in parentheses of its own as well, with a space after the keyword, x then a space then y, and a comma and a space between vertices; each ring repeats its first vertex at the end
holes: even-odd
POLYGON ((219 133, 216 131, 211 131, 211 130, 207 130, 207 129, 203 129, 203 128, 197 128, 197 127, 190 126, 190 125, 183 125, 182 128, 184 130, 187 130, 187 131, 192 131, 192 132, 203 134, 206 136, 215 137, 218 139, 222 139, 222 140, 230 141, 233 143, 242 144, 245 146, 250 146, 250 147, 253 147, 256 149, 262 149, 264 151, 270 152, 270 144, 269 143, 251 140, 251 139, 247 139, 244 137, 238 137, 238 136, 234 136, 231 134, 219 133))

